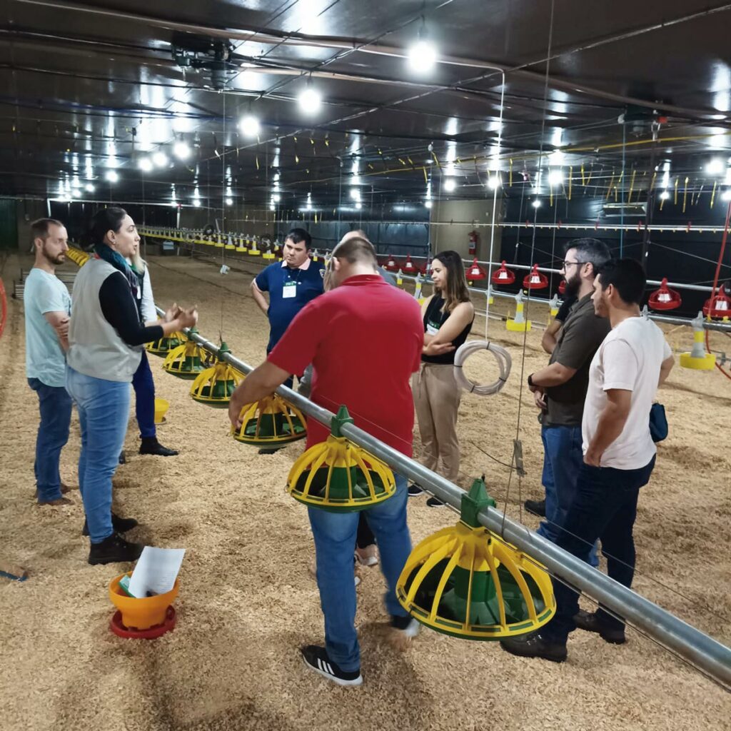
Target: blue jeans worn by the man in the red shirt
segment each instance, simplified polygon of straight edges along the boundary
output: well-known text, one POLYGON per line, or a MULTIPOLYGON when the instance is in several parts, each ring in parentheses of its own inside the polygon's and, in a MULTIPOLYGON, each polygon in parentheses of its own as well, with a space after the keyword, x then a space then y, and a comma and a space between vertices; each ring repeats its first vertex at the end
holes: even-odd
MULTIPOLYGON (((406 525, 406 477, 397 474, 396 493, 366 512, 368 525, 376 534, 381 570, 386 579, 386 610, 405 617, 396 599, 396 581, 411 553, 411 536, 406 525)), ((317 555, 317 586, 325 615, 325 647, 330 659, 342 670, 360 668, 360 647, 355 632, 355 584, 353 553, 359 512, 333 513, 308 508, 317 555)))

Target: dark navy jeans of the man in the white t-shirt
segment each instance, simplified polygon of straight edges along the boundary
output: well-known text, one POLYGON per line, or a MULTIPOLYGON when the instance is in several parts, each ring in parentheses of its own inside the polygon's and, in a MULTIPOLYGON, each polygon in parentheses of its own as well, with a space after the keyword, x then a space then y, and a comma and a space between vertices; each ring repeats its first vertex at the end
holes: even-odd
MULTIPOLYGON (((630 588, 635 575, 635 539, 632 529, 637 518, 637 496, 647 485, 655 466, 653 457, 640 469, 581 466, 572 504, 556 544, 577 558, 586 559, 586 544, 602 540, 602 553, 607 558, 607 574, 630 588)), ((574 616, 579 610, 575 589, 553 579, 556 614, 541 629, 550 642, 565 644, 569 632, 576 629, 574 616)), ((607 629, 622 629, 624 621, 612 616, 599 605, 596 618, 607 629)))

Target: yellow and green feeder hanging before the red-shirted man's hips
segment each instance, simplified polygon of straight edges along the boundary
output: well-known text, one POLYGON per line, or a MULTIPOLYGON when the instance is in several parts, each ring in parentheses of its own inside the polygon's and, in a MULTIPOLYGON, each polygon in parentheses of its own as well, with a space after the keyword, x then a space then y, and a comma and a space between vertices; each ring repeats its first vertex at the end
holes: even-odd
POLYGON ((328 512, 357 512, 395 494, 393 472, 343 436, 346 423, 353 420, 341 406, 327 440, 310 447, 292 465, 287 491, 295 500, 328 512))

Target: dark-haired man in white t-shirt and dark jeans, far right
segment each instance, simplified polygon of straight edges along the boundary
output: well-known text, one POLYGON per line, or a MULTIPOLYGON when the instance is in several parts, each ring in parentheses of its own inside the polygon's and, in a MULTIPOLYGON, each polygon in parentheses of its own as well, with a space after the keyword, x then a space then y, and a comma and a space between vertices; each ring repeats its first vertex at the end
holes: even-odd
MULTIPOLYGON (((607 573, 632 586, 640 488, 650 480, 656 448, 650 434, 650 409, 659 385, 673 368, 673 353, 662 330, 640 314, 645 273, 632 259, 609 262, 594 282, 594 310, 608 317, 612 330, 594 355, 581 431, 584 463, 576 498, 556 544, 583 558, 597 538, 607 558, 607 573)), ((605 641, 624 643, 624 621, 601 605, 596 613, 579 610, 578 595, 553 581, 556 616, 526 637, 504 640, 508 652, 566 659, 569 632, 579 626, 605 641)))

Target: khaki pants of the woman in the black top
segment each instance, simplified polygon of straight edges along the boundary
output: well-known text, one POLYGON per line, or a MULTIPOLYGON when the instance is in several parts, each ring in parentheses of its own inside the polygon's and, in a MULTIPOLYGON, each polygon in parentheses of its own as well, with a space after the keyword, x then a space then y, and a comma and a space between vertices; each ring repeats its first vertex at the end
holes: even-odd
POLYGON ((457 482, 459 476, 459 439, 457 412, 462 390, 454 375, 454 366, 422 363, 421 370, 412 377, 414 406, 421 435, 423 466, 438 471, 457 482))

